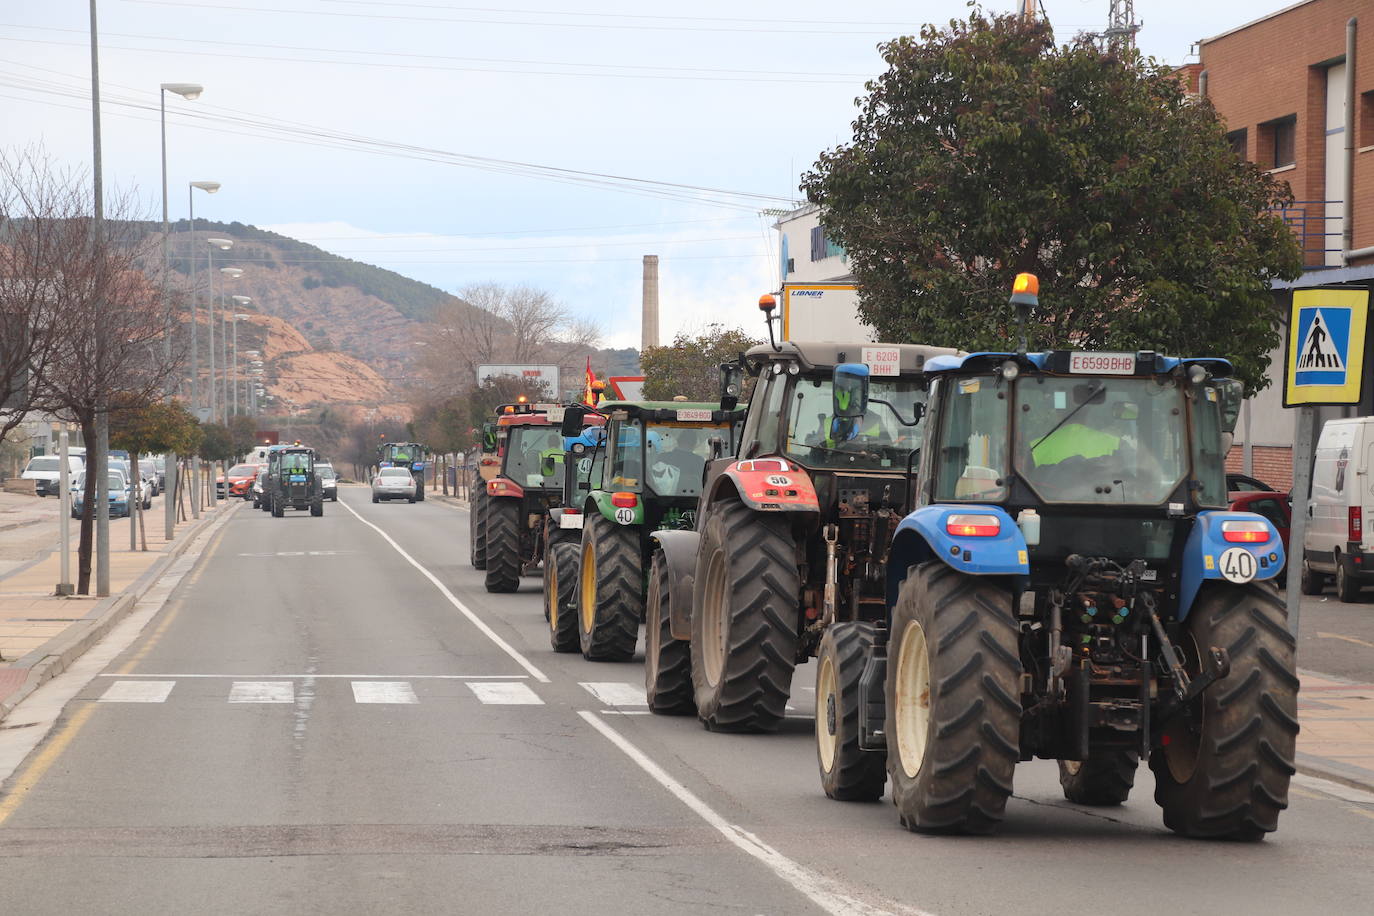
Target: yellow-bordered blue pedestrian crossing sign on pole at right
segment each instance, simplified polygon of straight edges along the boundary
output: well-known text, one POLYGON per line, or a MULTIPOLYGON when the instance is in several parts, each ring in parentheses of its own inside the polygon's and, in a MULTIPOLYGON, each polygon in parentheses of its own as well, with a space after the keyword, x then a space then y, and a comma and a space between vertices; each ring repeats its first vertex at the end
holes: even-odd
POLYGON ((1294 290, 1283 407, 1359 404, 1369 290, 1294 290))

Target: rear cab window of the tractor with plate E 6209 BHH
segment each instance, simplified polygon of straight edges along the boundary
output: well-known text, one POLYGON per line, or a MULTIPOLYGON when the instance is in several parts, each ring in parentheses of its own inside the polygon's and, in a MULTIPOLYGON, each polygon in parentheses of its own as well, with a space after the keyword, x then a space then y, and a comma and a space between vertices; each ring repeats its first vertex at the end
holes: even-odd
POLYGON ((905 470, 911 452, 921 448, 916 420, 918 405, 926 401, 923 386, 915 379, 871 379, 868 412, 846 435, 833 423, 833 387, 830 376, 797 380, 783 452, 809 467, 905 470))

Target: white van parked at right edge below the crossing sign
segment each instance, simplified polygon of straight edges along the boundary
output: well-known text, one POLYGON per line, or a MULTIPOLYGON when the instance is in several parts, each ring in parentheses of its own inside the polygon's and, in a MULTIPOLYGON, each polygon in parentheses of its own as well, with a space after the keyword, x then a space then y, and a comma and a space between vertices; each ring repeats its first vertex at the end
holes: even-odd
POLYGON ((1316 441, 1312 493, 1303 542, 1303 593, 1318 595, 1329 577, 1353 602, 1374 582, 1374 416, 1327 420, 1316 441))

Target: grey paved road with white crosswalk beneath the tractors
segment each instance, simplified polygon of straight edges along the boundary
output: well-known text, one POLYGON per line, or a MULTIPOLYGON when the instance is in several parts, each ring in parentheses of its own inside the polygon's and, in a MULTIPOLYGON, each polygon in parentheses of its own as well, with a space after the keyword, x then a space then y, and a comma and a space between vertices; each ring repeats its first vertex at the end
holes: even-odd
POLYGON ((7 912, 1292 916, 1374 895, 1374 798, 1312 783, 1270 840, 1200 843, 1164 831, 1147 769, 1103 812, 1033 762, 1002 835, 908 834, 886 801, 822 795, 809 666, 780 735, 644 715, 638 665, 547 648, 537 580, 486 595, 460 511, 342 500, 238 509, 67 705, 0 798, 7 912))

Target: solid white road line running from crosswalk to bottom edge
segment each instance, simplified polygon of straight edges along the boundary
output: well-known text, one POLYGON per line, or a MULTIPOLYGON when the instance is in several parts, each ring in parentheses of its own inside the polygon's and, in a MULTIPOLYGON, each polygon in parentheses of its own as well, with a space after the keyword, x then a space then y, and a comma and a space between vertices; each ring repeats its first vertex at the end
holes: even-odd
POLYGON ((801 894, 811 900, 811 902, 827 913, 834 913, 835 916, 879 916, 883 913, 930 916, 930 913, 922 909, 912 909, 899 904, 888 904, 888 908, 885 909, 855 898, 846 893, 838 882, 824 878, 823 875, 818 875, 800 862, 787 858, 745 828, 731 824, 724 817, 717 814, 710 805, 701 801, 690 788, 669 776, 664 768, 650 759, 647 754, 625 740, 625 737, 614 728, 600 721, 596 713, 577 710, 577 714, 581 715, 588 725, 605 735, 611 744, 618 747, 625 757, 638 764, 642 770, 649 773, 655 783, 666 788, 677 798, 677 801, 690 808, 698 817, 720 831, 721 836, 767 865, 768 869, 778 878, 801 891, 801 894))

